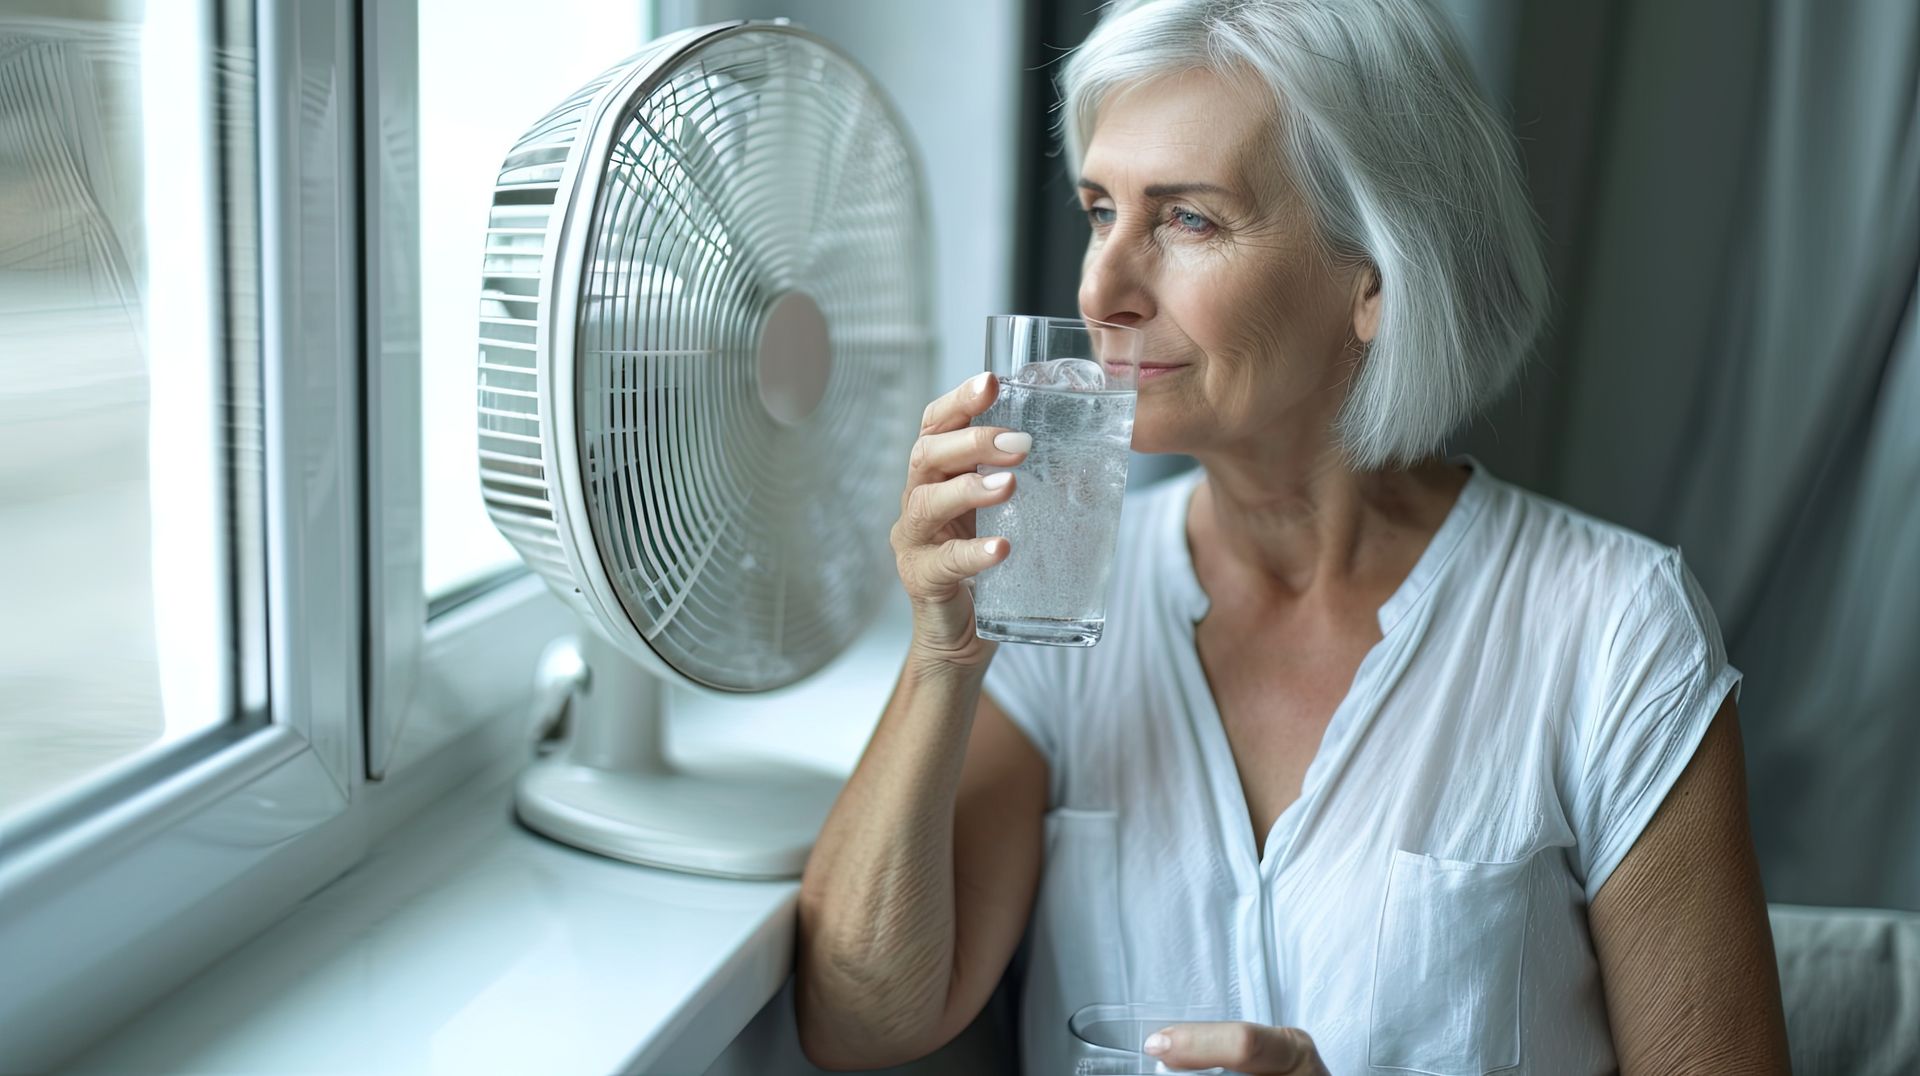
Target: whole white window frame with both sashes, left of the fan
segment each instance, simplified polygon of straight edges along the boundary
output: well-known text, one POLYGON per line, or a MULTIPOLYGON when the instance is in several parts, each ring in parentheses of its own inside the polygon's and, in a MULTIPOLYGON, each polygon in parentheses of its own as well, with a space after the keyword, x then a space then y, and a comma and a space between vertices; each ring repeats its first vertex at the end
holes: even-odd
MULTIPOLYGON (((8 819, 8 1070, 65 1063, 344 874, 394 824, 528 751, 534 663, 576 630, 530 575, 428 621, 413 4, 200 8, 225 10, 221 40, 252 29, 257 56, 255 152, 225 159, 228 183, 257 186, 257 248, 236 234, 215 248, 257 256, 259 338, 207 357, 263 382, 257 417, 230 413, 232 430, 263 430, 265 494, 236 494, 232 511, 242 703, 236 721, 132 759, 84 799, 8 819)), ((223 198, 234 206, 232 190, 223 198)), ((253 313, 242 269, 253 265, 234 259, 221 277, 227 321, 253 313)), ((242 477, 248 448, 234 452, 242 477)))

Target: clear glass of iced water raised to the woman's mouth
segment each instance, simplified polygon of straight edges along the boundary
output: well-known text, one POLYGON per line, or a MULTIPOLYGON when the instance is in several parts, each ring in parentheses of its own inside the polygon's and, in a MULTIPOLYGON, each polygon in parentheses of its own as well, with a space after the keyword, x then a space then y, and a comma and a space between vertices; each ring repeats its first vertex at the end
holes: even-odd
POLYGON ((1000 382, 975 427, 1025 432, 1014 496, 975 509, 973 532, 1008 555, 972 580, 973 630, 998 642, 1092 646, 1119 542, 1133 450, 1139 329, 1002 313, 987 319, 987 371, 1000 382))

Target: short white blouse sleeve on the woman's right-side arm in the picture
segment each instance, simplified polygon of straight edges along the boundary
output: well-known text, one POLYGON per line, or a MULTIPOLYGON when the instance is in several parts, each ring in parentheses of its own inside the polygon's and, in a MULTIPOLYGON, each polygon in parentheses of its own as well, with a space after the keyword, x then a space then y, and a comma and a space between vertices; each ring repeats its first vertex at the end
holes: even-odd
POLYGON ((1588 903, 1680 780, 1740 671, 1678 550, 1665 550, 1609 619, 1580 736, 1574 824, 1588 903))

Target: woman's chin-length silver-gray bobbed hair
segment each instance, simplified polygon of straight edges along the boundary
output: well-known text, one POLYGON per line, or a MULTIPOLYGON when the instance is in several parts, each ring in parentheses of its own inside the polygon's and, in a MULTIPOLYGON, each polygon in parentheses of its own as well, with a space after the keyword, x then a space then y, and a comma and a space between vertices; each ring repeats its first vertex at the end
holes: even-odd
POLYGON ((1513 380, 1549 304, 1513 134, 1453 29, 1421 0, 1119 0, 1062 77, 1073 175, 1104 100, 1190 69, 1273 98, 1319 250, 1379 273, 1379 332, 1334 423, 1350 463, 1438 452, 1513 380))

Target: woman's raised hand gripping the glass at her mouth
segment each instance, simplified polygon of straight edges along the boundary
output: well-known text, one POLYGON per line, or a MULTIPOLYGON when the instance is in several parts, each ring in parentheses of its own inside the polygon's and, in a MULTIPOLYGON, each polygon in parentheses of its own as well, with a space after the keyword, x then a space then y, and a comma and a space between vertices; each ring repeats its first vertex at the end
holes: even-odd
POLYGON ((1014 475, 977 475, 975 467, 1012 467, 1033 446, 1023 432, 968 425, 998 392, 993 375, 975 375, 929 404, 906 461, 893 553, 914 605, 914 653, 937 663, 985 667, 996 649, 973 634, 973 594, 962 584, 1008 555, 1006 538, 973 532, 973 509, 1014 496, 1014 475), (996 446, 996 436, 1006 440, 996 446), (1006 482, 991 488, 989 478, 1006 482))

